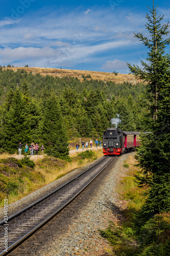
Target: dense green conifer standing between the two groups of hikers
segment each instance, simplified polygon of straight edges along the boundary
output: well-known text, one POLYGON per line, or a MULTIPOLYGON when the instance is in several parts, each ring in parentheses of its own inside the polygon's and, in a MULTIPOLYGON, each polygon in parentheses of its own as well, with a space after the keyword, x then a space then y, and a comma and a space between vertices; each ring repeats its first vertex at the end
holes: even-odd
POLYGON ((53 95, 46 102, 42 141, 48 155, 54 157, 68 155, 67 131, 63 125, 59 103, 53 95))

